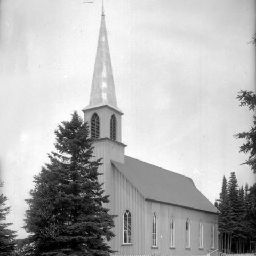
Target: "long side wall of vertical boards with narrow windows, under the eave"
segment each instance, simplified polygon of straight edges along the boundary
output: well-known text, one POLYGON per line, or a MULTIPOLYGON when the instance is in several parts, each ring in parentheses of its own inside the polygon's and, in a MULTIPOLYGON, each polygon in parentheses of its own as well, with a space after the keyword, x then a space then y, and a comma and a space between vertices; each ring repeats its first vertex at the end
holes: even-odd
MULTIPOLYGON (((185 209, 179 206, 146 201, 145 233, 146 254, 154 255, 206 255, 211 247, 211 223, 216 214, 185 209), (151 247, 151 228, 153 214, 158 219, 158 248, 151 247), (170 248, 171 217, 175 220, 175 249, 170 248), (190 221, 190 249, 186 249, 186 220, 190 221), (199 249, 199 221, 203 222, 203 249, 199 249), (161 237, 162 236, 162 237, 161 237)), ((215 233, 215 241, 217 241, 215 233)), ((216 244, 215 244, 215 248, 216 244)))

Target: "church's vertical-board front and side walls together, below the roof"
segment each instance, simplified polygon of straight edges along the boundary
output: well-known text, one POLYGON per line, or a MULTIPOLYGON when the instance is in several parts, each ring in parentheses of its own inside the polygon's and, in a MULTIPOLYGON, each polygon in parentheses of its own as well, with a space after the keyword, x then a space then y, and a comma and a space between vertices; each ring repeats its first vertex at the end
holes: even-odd
MULTIPOLYGON (((206 255, 211 248, 211 223, 217 214, 185 209, 179 206, 145 201, 140 192, 113 166, 113 207, 115 218, 111 242, 115 255, 206 255), (122 245, 123 213, 132 214, 132 245, 122 245), (152 219, 158 221, 158 247, 152 247, 152 219), (171 217, 175 220, 175 248, 170 248, 171 217), (190 221, 190 249, 185 249, 186 220, 190 221), (199 249, 199 221, 203 222, 203 249, 199 249), (162 237, 161 237, 162 236, 162 237)), ((215 231, 215 241, 218 234, 215 231)), ((215 249, 218 245, 215 242, 215 249)))

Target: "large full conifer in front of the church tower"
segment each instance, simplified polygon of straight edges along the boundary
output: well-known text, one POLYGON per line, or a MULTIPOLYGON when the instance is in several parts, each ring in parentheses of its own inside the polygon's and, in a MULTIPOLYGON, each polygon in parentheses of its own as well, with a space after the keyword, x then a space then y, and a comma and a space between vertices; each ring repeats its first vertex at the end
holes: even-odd
POLYGON ((56 151, 27 199, 25 229, 33 233, 34 255, 109 255, 115 216, 103 207, 109 200, 98 182, 101 159, 93 159, 89 127, 74 112, 55 135, 56 151))

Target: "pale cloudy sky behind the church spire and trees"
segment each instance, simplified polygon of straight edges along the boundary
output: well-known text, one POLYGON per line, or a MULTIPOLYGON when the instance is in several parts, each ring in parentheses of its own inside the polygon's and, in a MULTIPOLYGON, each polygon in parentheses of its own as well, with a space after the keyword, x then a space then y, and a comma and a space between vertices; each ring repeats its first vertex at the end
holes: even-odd
MULTIPOLYGON (((82 2, 0 0, 0 170, 19 238, 57 124, 89 103, 101 1, 82 2)), ((105 13, 125 154, 212 203, 223 175, 252 185, 234 134, 252 124, 236 95, 255 86, 255 1, 105 0, 105 13)))

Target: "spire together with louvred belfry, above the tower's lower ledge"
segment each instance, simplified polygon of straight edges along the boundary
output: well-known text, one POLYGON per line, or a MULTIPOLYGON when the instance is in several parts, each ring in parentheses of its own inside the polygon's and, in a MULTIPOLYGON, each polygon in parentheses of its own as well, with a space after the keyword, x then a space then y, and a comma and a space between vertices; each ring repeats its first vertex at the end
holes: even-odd
POLYGON ((111 143, 124 147, 121 142, 121 116, 124 113, 117 107, 116 103, 103 1, 90 102, 82 111, 84 112, 84 121, 90 125, 91 137, 95 141, 98 140, 97 143, 111 140, 111 143))

